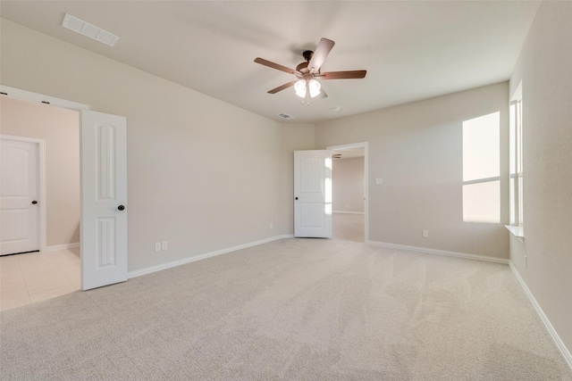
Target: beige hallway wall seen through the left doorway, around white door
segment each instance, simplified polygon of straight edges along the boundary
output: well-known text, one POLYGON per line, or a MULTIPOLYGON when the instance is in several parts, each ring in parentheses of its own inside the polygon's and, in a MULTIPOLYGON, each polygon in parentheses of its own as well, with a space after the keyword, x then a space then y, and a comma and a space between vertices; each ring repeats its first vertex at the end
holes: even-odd
POLYGON ((46 244, 80 242, 79 113, 2 96, 0 126, 5 135, 46 141, 46 244))

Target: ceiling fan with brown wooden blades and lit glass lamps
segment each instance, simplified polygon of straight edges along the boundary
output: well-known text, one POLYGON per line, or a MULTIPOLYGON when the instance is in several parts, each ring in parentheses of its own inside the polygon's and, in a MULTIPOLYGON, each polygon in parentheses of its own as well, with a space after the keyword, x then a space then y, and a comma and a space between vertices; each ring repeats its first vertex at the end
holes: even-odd
MULTIPOLYGON (((294 74, 297 79, 294 79, 282 86, 273 88, 268 91, 269 94, 276 94, 288 87, 294 87, 296 95, 301 98, 306 98, 307 103, 309 98, 314 98, 320 95, 321 98, 325 98, 326 95, 320 82, 316 79, 362 79, 366 77, 366 70, 350 70, 350 71, 327 71, 321 72, 320 68, 325 61, 325 58, 330 54, 334 42, 331 39, 322 38, 320 43, 315 48, 315 52, 307 50, 302 55, 306 62, 300 63, 296 66, 296 70, 287 68, 278 63, 270 62, 264 58, 257 57, 254 62, 260 63, 261 65, 268 66, 269 68, 286 71, 289 74, 294 74)), ((304 103, 302 101, 302 103, 304 103)))

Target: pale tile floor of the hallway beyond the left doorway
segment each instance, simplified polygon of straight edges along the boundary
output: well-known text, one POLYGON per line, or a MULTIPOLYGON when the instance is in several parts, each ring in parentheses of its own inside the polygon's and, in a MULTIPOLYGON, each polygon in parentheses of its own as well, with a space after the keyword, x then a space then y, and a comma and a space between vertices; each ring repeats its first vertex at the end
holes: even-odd
POLYGON ((79 290, 80 248, 0 257, 0 311, 79 290))

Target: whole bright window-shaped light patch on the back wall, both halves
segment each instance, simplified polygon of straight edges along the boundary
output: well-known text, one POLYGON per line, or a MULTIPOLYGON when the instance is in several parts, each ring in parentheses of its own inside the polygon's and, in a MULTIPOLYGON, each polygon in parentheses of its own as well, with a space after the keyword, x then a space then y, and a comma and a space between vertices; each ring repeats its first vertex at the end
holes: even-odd
POLYGON ((500 127, 500 112, 463 122, 465 222, 501 222, 500 127))

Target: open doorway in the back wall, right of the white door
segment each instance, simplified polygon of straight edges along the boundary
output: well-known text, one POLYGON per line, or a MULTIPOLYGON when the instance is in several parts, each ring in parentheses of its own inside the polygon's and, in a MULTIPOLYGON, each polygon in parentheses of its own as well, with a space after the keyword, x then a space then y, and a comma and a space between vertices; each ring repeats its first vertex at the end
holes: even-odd
POLYGON ((367 143, 332 150, 332 236, 367 242, 367 143))

